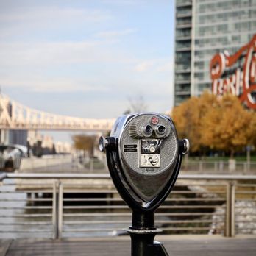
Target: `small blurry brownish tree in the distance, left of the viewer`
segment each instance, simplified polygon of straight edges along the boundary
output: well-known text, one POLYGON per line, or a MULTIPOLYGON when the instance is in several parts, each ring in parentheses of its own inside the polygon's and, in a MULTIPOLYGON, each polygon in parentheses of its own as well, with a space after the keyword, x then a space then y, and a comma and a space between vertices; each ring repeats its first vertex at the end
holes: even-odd
POLYGON ((74 148, 78 150, 82 150, 84 152, 88 152, 89 156, 93 156, 94 144, 96 141, 96 136, 93 135, 74 135, 72 136, 72 140, 74 143, 74 148))

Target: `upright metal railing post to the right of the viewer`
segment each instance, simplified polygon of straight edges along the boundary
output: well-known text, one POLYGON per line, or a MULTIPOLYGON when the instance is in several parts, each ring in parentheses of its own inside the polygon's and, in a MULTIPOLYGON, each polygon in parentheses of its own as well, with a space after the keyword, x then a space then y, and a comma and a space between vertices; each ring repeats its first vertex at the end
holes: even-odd
POLYGON ((225 236, 235 236, 235 182, 227 183, 225 236))

